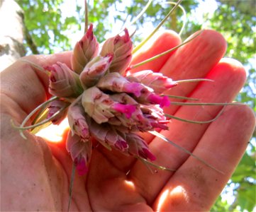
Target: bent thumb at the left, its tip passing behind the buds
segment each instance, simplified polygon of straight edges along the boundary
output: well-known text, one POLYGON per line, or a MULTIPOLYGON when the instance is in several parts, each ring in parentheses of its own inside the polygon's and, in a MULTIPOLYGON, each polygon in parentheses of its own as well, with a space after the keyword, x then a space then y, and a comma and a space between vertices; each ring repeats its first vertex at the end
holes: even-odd
MULTIPOLYGON (((57 61, 70 65, 71 52, 52 55, 33 55, 24 57, 38 66, 50 66, 57 61)), ((1 72, 1 94, 4 93, 18 103, 23 111, 29 113, 45 101, 48 94, 48 76, 30 64, 18 60, 1 72)))

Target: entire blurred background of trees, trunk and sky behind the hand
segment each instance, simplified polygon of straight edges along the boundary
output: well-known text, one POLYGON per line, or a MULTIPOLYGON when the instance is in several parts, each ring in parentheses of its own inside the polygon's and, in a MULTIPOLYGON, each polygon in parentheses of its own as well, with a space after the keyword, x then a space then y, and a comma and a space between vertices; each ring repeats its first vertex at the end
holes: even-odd
MULTIPOLYGON (((141 0, 89 0, 89 23, 99 42, 128 26, 134 44, 167 15, 173 7, 154 0, 135 24, 130 23, 148 4, 141 0)), ((256 95, 256 1, 185 0, 160 30, 182 31, 186 39, 197 30, 211 28, 228 42, 226 57, 238 59, 247 72, 247 82, 237 100, 255 112, 256 95)), ((29 54, 51 54, 72 49, 84 33, 84 0, 0 0, 0 69, 29 54)), ((256 201, 255 134, 247 152, 211 211, 253 211, 256 201)))

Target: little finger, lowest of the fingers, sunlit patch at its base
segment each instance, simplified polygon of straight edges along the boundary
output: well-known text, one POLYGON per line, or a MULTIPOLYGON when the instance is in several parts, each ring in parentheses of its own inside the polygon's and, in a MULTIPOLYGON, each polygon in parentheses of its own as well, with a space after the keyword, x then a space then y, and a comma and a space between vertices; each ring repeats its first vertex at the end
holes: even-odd
POLYGON ((194 154, 224 174, 189 157, 162 189, 155 201, 155 209, 209 211, 242 158, 254 127, 255 116, 249 107, 228 106, 208 127, 194 150, 194 154))

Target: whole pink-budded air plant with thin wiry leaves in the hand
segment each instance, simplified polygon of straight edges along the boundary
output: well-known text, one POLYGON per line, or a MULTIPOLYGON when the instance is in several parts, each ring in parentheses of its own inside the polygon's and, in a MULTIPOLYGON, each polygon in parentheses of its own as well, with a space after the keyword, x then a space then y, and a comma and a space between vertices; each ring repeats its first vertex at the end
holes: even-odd
MULTIPOLYGON (((175 4, 172 11, 179 6, 180 2, 178 1, 175 4)), ((156 30, 165 22, 170 13, 156 30)), ((131 66, 130 61, 133 53, 145 45, 156 30, 135 48, 133 48, 131 35, 127 28, 122 30, 122 34, 111 37, 103 45, 100 45, 93 33, 93 24, 88 25, 87 18, 85 22, 85 33, 74 47, 71 67, 60 62, 44 67, 32 64, 49 75, 49 93, 52 98, 35 108, 24 119, 21 126, 17 127, 21 131, 21 136, 25 137, 23 130, 32 129, 32 131, 36 131, 37 127, 47 123, 59 124, 67 116, 70 126, 67 136, 67 151, 70 153, 79 175, 84 175, 89 171, 92 148, 97 143, 100 143, 109 151, 116 149, 125 155, 135 156, 145 164, 154 165, 151 161, 156 159, 155 155, 151 153, 143 136, 138 134, 147 132, 159 136, 163 141, 171 143, 212 167, 201 158, 177 146, 177 144, 157 132, 159 129, 168 130, 168 123, 171 119, 179 119, 165 113, 164 108, 169 107, 171 104, 230 104, 170 102, 170 96, 163 94, 166 90, 179 86, 179 83, 211 80, 197 78, 173 81, 171 78, 163 76, 162 73, 155 73, 151 70, 130 73, 131 69, 185 45, 194 37, 200 36, 201 32, 183 42, 182 45, 169 49, 167 52, 147 61, 140 62, 140 64, 131 66), (33 119, 32 124, 27 126, 28 119, 33 117, 36 112, 38 114, 33 119)), ((195 100, 179 96, 171 96, 171 98, 195 100)), ((218 115, 214 119, 205 122, 180 120, 203 124, 213 122, 217 118, 218 115)), ((158 165, 154 166, 160 167, 158 165)), ((165 167, 160 168, 170 170, 165 167)), ((212 168, 215 169, 215 167, 212 168)))

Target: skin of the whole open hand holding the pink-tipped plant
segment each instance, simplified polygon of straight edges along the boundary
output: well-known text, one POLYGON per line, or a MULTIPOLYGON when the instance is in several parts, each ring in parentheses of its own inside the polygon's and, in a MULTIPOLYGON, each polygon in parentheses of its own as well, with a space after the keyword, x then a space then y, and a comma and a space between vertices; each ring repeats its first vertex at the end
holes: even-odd
MULTIPOLYGON (((135 55, 133 64, 180 42, 175 33, 160 33, 143 53, 135 55)), ((214 83, 184 83, 168 94, 200 98, 201 102, 230 102, 243 87, 245 70, 238 61, 221 59, 225 51, 223 37, 205 30, 188 45, 140 69, 161 71, 174 80, 211 78, 214 83)), ((70 66, 70 56, 63 52, 26 59, 40 66, 56 61, 70 66)), ((72 160, 65 150, 65 136, 60 143, 50 143, 26 132, 24 140, 10 124, 10 119, 21 123, 47 98, 48 76, 33 66, 16 61, 1 72, 1 211, 67 211, 72 160)), ((220 110, 172 105, 166 112, 206 121, 220 110)), ((97 146, 88 174, 75 175, 70 211, 208 211, 243 156, 254 127, 249 107, 229 105, 215 122, 172 120, 169 131, 161 132, 223 173, 150 134, 144 136, 157 157, 155 163, 176 172, 152 174, 140 161, 97 146)))

